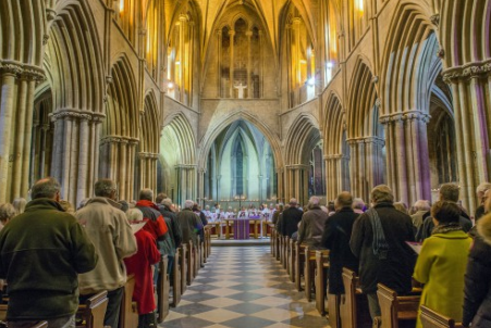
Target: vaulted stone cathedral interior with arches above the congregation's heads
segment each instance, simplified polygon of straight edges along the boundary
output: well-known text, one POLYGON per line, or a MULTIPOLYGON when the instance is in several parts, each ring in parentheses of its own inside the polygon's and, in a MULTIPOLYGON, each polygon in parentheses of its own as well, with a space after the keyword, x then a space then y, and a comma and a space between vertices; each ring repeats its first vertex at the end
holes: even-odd
POLYGON ((0 3, 0 203, 45 176, 175 203, 435 198, 490 179, 491 2, 0 3))

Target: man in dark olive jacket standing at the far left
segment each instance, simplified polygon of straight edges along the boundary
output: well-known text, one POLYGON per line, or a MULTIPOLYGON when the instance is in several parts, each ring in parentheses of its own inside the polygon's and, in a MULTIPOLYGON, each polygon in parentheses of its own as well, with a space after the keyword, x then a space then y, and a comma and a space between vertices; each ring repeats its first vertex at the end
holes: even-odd
MULTIPOLYGON (((33 200, 0 232, 0 278, 9 281, 9 327, 75 327, 77 274, 96 267, 85 229, 59 205, 60 184, 34 184, 33 200)), ((99 261, 100 263, 100 261, 99 261)))

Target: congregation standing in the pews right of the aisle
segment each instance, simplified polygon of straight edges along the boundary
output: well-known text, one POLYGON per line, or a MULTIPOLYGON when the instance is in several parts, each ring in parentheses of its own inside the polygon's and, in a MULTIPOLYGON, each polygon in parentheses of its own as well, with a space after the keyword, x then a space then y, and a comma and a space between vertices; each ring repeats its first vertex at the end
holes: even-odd
MULTIPOLYGON (((398 295, 422 288, 420 305, 483 328, 491 327, 491 184, 481 184, 477 195, 472 219, 459 204, 459 187, 444 184, 438 201, 418 200, 409 210, 380 185, 370 206, 346 191, 328 206, 318 197, 303 207, 291 199, 272 220, 280 236, 329 250, 328 298, 345 294, 343 268, 355 272, 372 320, 381 316, 381 283, 398 295)), ((422 327, 420 311, 416 327, 422 327)))

